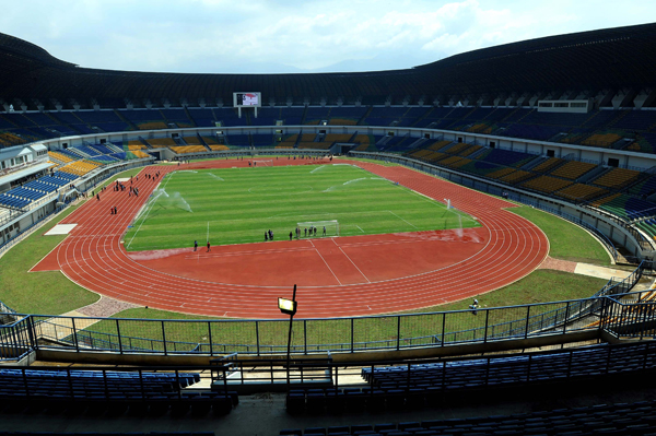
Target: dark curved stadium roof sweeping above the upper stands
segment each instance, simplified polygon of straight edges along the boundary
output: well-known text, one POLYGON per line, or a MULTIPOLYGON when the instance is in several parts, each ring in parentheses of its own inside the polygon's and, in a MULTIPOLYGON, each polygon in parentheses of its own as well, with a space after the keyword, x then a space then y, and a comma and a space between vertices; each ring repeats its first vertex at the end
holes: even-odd
POLYGON ((232 93, 261 92, 277 105, 442 104, 499 95, 634 91, 656 87, 656 23, 583 32, 473 50, 408 70, 307 74, 190 74, 80 68, 0 34, 0 98, 36 109, 155 106, 201 99, 232 104, 232 93))

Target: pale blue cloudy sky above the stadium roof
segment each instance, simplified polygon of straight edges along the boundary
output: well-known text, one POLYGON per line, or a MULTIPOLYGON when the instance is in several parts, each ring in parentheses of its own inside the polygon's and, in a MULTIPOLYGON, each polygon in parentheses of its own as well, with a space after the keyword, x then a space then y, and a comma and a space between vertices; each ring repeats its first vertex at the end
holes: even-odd
POLYGON ((22 0, 2 8, 0 32, 85 68, 305 73, 654 21, 656 0, 22 0))

